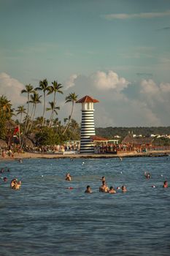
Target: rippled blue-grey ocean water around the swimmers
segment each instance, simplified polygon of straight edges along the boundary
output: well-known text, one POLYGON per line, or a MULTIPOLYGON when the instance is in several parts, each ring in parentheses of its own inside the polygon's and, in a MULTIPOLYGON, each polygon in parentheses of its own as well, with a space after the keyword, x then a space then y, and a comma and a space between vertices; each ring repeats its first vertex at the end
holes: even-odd
POLYGON ((6 183, 0 179, 1 256, 170 255, 170 187, 162 187, 170 183, 170 157, 23 159, 1 167, 10 170, 1 173, 6 183), (98 192, 101 176, 128 192, 98 192), (9 188, 14 177, 18 191, 9 188))

